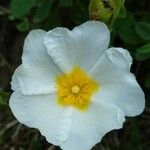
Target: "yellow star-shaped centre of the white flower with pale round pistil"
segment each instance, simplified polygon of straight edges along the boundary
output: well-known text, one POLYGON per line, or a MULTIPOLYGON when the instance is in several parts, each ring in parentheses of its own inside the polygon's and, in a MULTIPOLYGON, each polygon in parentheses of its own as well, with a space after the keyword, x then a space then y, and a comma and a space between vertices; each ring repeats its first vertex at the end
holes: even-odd
POLYGON ((58 103, 61 106, 72 106, 79 110, 88 108, 91 96, 99 87, 99 84, 79 67, 58 76, 56 83, 58 103))

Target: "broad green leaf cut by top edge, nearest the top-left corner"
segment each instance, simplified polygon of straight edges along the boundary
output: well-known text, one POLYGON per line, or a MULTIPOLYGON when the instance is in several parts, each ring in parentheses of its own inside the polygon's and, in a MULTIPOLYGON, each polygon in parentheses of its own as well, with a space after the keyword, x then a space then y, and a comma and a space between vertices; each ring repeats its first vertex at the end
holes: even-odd
POLYGON ((10 6, 10 13, 15 18, 20 18, 29 13, 31 8, 35 5, 35 0, 12 0, 10 6))

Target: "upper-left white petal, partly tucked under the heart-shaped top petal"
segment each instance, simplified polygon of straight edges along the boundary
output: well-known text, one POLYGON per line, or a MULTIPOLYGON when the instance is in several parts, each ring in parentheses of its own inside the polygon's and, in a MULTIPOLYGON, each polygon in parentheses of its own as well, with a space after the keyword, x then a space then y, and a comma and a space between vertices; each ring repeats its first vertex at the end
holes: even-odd
POLYGON ((61 71, 48 56, 43 44, 46 32, 33 30, 27 36, 22 55, 22 65, 13 77, 11 86, 22 94, 49 94, 55 91, 55 77, 61 71))

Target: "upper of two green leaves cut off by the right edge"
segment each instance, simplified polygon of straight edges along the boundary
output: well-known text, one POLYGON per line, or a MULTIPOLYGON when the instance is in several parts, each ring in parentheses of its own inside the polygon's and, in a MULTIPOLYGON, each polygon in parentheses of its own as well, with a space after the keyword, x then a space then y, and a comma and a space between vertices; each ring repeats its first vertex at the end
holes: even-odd
POLYGON ((138 22, 136 32, 142 39, 150 40, 150 23, 138 22))

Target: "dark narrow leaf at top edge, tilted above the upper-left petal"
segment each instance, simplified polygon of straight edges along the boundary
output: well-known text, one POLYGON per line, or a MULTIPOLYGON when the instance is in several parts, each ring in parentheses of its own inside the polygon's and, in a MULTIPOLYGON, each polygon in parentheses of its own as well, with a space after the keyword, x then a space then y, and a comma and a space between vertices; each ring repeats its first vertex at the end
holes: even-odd
POLYGON ((53 2, 54 0, 46 1, 40 7, 37 8, 33 17, 33 21, 35 23, 42 22, 49 16, 53 2))

